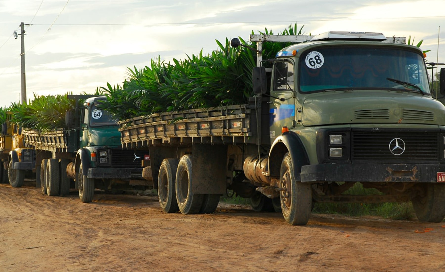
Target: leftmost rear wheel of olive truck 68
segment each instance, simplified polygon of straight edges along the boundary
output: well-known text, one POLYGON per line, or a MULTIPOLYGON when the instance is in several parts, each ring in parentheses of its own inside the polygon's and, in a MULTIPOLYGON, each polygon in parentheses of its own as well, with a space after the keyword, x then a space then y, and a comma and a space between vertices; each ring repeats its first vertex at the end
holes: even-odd
POLYGON ((176 170, 178 169, 178 160, 175 158, 166 158, 162 161, 158 175, 158 196, 162 211, 174 213, 179 211, 176 201, 174 180, 176 170))

